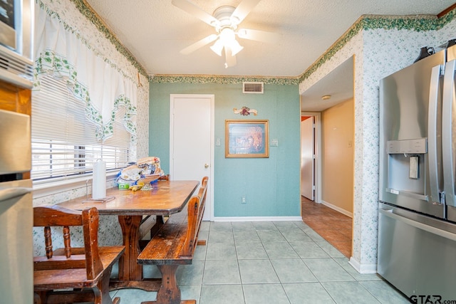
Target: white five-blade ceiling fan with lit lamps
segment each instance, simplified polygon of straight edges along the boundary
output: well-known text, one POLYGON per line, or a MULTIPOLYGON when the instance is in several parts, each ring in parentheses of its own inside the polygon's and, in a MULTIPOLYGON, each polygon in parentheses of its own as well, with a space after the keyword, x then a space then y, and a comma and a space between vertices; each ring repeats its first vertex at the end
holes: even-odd
POLYGON ((184 48, 180 53, 190 54, 203 46, 215 43, 210 47, 218 56, 222 56, 222 51, 225 53, 225 68, 236 65, 236 54, 244 48, 236 40, 236 36, 243 39, 255 41, 274 42, 277 36, 274 33, 265 31, 257 31, 248 28, 237 28, 245 17, 254 9, 261 0, 242 0, 235 8, 233 6, 219 6, 215 9, 212 15, 199 8, 199 6, 190 2, 190 0, 172 0, 172 4, 186 11, 189 14, 201 19, 209 26, 215 28, 216 33, 202 38, 193 43, 187 48, 184 48))

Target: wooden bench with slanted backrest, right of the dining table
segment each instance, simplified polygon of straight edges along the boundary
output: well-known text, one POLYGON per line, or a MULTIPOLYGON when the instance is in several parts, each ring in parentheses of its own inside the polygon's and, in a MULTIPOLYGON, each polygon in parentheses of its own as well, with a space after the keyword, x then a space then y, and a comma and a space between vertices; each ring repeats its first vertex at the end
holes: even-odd
POLYGON ((206 190, 207 177, 204 177, 197 196, 192 196, 187 208, 177 214, 171 214, 138 256, 138 263, 157 265, 162 274, 157 300, 142 302, 142 304, 196 303, 196 300, 181 301, 176 271, 178 266, 192 263, 204 212, 206 190))

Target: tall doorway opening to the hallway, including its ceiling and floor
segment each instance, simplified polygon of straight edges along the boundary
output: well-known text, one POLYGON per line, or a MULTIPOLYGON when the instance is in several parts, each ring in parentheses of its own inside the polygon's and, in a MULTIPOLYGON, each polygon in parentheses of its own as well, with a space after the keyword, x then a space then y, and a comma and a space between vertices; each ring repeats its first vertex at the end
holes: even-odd
POLYGON ((301 122, 314 117, 314 142, 301 141, 302 151, 314 149, 313 169, 301 155, 301 216, 348 258, 353 243, 354 63, 351 56, 301 93, 301 122), (311 173, 314 198, 304 189, 311 173))

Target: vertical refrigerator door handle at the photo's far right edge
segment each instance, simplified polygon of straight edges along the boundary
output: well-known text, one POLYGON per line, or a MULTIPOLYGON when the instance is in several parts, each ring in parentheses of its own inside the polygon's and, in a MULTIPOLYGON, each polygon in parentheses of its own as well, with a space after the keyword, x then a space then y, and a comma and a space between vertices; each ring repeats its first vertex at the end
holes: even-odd
POLYGON ((443 189, 446 203, 456 206, 455 201, 455 142, 453 136, 456 130, 455 117, 455 68, 456 61, 450 61, 445 68, 443 78, 442 101, 442 163, 443 163, 443 189))

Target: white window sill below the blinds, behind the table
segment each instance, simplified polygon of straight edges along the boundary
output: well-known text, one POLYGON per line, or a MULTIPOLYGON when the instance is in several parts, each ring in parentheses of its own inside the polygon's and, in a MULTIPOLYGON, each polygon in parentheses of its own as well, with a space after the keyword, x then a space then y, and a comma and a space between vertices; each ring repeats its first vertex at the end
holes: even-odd
MULTIPOLYGON (((106 183, 114 182, 118 175, 118 171, 106 173, 106 183)), ((57 182, 47 183, 33 183, 33 199, 38 199, 43 196, 57 194, 61 192, 71 191, 76 188, 88 187, 88 191, 91 192, 92 186, 92 175, 86 175, 75 179, 65 179, 57 182)))

